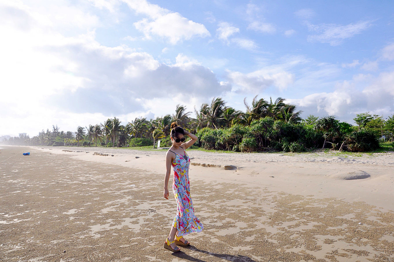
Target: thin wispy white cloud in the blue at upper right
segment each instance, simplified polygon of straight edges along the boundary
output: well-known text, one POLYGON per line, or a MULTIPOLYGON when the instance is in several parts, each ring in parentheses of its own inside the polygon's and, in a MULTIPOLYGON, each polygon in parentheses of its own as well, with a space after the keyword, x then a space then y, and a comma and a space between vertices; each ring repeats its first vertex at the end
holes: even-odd
POLYGON ((314 25, 307 23, 310 31, 318 34, 308 36, 309 42, 329 43, 330 45, 340 45, 344 39, 351 38, 372 26, 372 21, 359 21, 345 26, 337 24, 314 25))

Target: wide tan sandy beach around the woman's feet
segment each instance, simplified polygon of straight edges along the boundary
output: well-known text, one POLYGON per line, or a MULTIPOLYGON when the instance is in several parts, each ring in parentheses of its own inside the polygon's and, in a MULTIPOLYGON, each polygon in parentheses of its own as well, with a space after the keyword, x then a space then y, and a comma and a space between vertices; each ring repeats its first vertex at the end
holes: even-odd
POLYGON ((205 229, 172 254, 162 247, 176 210, 162 197, 164 152, 88 150, 3 146, 0 261, 394 261, 393 155, 190 151, 205 229), (343 180, 357 174, 370 177, 343 180))

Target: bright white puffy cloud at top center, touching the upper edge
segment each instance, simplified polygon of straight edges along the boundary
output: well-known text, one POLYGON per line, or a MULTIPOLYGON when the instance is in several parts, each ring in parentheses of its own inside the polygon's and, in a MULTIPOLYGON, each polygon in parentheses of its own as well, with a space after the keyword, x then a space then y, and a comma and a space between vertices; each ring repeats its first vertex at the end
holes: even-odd
POLYGON ((158 36, 167 39, 169 43, 175 45, 194 36, 210 36, 203 24, 188 20, 182 17, 180 13, 171 12, 146 0, 123 1, 136 13, 148 16, 148 18, 134 23, 134 26, 137 30, 143 32, 146 39, 158 36))

